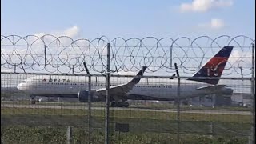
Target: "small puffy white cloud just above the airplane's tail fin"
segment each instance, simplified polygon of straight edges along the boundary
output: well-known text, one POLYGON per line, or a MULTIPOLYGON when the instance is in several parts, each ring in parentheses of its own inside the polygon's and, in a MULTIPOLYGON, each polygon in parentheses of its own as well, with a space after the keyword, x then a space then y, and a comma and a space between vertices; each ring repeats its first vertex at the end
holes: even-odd
POLYGON ((213 18, 210 22, 201 23, 198 25, 200 28, 219 30, 226 26, 225 22, 222 19, 213 18))

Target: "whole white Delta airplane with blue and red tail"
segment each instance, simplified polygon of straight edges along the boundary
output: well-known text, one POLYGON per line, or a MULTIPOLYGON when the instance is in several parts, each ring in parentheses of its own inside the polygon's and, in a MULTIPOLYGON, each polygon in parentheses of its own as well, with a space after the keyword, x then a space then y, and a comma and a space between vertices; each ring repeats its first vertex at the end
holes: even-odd
MULTIPOLYGON (((224 46, 192 78, 182 80, 179 99, 202 97, 210 94, 233 94, 233 90, 226 87, 226 85, 218 85, 219 78, 232 50, 233 46, 224 46), (202 77, 206 79, 202 79, 202 77)), ((111 106, 128 107, 127 100, 175 101, 177 99, 178 85, 176 83, 166 85, 159 82, 142 82, 142 75, 146 68, 146 66, 143 66, 142 70, 130 82, 120 78, 118 82, 122 82, 122 84, 110 83, 111 106)), ((88 78, 85 76, 73 78, 63 76, 60 79, 58 76, 52 75, 49 78, 46 78, 46 76, 27 78, 17 86, 18 90, 30 94, 32 100, 35 96, 43 96, 78 98, 80 102, 88 101, 88 87, 88 78)), ((98 82, 97 79, 92 79, 90 96, 91 102, 105 102, 106 81, 98 82)))

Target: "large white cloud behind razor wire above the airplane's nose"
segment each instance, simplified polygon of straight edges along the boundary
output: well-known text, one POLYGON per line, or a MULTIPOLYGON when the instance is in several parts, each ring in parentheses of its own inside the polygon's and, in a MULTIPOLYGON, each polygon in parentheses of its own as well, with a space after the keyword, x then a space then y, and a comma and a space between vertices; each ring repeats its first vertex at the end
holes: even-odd
MULTIPOLYGON (((6 44, 6 47, 2 47, 1 53, 5 54, 1 60, 4 62, 7 61, 9 63, 20 63, 21 59, 26 61, 26 63, 33 63, 34 61, 37 61, 39 63, 44 62, 44 45, 47 46, 47 60, 49 62, 52 62, 54 59, 59 58, 74 58, 78 54, 82 54, 82 51, 78 49, 78 47, 71 47, 71 43, 73 42, 70 40, 70 38, 60 38, 56 39, 53 36, 46 36, 43 37, 46 34, 54 35, 55 37, 61 37, 61 36, 67 36, 73 39, 76 39, 79 37, 80 34, 80 29, 78 26, 72 26, 70 28, 67 28, 66 30, 60 30, 60 31, 55 31, 55 32, 39 32, 34 34, 35 36, 39 37, 30 37, 26 39, 26 42, 24 43, 23 41, 18 41, 15 46, 15 50, 12 49, 12 47, 8 47, 7 45, 10 45, 9 41, 2 40, 2 44, 6 44), (43 37, 40 39, 40 37, 43 37), (65 50, 64 50, 65 49, 65 50), (62 53, 60 53, 62 51, 62 53), (10 54, 10 56, 7 56, 10 54), (60 54, 60 55, 59 55, 60 54), (33 56, 35 59, 33 59, 33 56), (59 58, 58 58, 59 56, 59 58)), ((14 42, 15 39, 14 39, 14 42)), ((63 60, 64 61, 64 60, 63 60)))

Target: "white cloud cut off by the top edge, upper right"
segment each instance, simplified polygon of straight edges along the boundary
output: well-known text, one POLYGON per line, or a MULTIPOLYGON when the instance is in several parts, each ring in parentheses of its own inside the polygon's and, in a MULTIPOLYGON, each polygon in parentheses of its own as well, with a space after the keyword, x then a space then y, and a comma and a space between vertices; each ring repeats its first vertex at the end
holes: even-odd
POLYGON ((194 0, 191 3, 182 3, 179 7, 181 12, 206 12, 221 7, 232 6, 232 0, 194 0))

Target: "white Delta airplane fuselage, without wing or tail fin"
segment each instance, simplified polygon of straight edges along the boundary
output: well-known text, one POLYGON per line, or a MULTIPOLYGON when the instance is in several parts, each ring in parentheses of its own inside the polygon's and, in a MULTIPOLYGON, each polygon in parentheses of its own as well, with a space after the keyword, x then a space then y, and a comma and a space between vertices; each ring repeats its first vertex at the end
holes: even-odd
MULTIPOLYGON (((118 79, 118 83, 110 83, 110 86, 116 86, 121 83, 126 82, 118 79)), ((216 93, 216 91, 212 90, 197 90, 198 87, 202 86, 210 85, 202 82, 182 81, 180 85, 179 98, 192 98, 216 93)), ((30 95, 57 96, 77 95, 80 90, 88 90, 89 84, 88 79, 85 77, 66 77, 59 79, 52 76, 51 78, 27 78, 17 87, 19 90, 22 90, 30 95)), ((92 79, 91 90, 99 90, 102 88, 106 88, 106 81, 97 81, 92 79)), ((166 82, 139 82, 127 93, 127 95, 146 96, 155 100, 173 100, 178 95, 178 84, 177 81, 170 84, 166 84, 166 82)))

